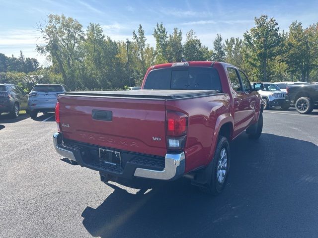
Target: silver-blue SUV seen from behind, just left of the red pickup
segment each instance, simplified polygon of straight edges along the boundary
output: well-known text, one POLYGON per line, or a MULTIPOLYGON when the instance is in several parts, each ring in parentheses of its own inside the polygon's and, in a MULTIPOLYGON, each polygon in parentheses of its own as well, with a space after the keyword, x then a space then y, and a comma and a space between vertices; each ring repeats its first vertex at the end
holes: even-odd
POLYGON ((36 84, 29 93, 28 113, 36 118, 38 113, 54 112, 58 95, 70 89, 64 84, 36 84))

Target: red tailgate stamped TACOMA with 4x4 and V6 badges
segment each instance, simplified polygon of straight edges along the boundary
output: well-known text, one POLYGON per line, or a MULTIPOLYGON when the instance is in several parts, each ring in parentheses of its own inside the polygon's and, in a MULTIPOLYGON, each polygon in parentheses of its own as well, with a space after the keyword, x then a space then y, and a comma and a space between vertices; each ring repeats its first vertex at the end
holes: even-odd
POLYGON ((65 139, 165 156, 164 100, 62 95, 58 101, 65 139))

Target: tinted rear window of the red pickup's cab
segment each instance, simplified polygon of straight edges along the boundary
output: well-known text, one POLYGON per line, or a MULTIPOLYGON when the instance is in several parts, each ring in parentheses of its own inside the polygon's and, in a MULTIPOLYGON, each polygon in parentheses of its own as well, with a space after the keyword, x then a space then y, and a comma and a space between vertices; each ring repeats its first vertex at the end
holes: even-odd
POLYGON ((215 68, 162 68, 148 74, 144 89, 221 91, 221 82, 215 68))

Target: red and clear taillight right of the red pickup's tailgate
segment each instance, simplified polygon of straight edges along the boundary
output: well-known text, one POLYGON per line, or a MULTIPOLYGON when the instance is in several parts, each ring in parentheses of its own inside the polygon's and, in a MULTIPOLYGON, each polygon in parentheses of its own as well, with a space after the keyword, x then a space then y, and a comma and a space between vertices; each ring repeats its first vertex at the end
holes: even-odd
POLYGON ((188 116, 184 113, 167 111, 166 143, 168 150, 183 150, 188 129, 188 116))

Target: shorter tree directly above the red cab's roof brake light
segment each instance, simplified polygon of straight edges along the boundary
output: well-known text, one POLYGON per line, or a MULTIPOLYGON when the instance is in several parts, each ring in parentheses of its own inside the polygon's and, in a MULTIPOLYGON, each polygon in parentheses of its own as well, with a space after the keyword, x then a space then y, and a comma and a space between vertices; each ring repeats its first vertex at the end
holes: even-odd
POLYGON ((168 62, 177 62, 182 60, 182 31, 178 28, 173 29, 172 35, 169 35, 167 42, 167 60, 168 62))

